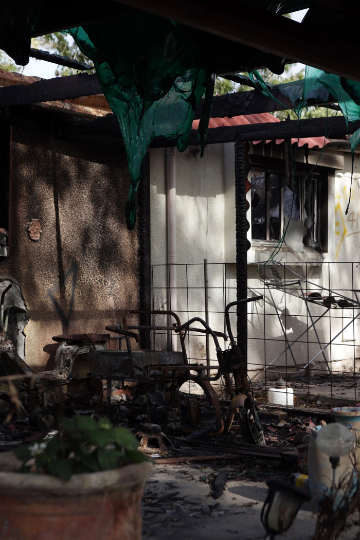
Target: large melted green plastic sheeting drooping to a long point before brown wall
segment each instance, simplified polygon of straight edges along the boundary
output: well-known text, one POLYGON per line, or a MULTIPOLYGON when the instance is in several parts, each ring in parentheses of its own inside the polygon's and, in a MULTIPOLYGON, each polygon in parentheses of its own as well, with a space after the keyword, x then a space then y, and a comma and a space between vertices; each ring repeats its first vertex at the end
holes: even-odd
POLYGON ((125 212, 127 227, 132 230, 135 194, 148 145, 157 137, 166 137, 184 151, 195 108, 205 93, 199 125, 203 152, 214 77, 199 46, 181 25, 167 19, 139 11, 68 32, 93 61, 123 134, 130 173, 125 212))

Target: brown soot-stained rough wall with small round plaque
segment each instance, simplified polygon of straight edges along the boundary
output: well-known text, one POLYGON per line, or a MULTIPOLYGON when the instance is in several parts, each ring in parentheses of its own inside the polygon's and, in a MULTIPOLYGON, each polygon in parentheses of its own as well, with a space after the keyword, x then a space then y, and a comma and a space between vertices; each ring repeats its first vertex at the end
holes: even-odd
POLYGON ((104 333, 139 305, 137 230, 126 228, 125 151, 12 127, 9 257, 0 277, 17 280, 31 313, 26 362, 51 369, 52 336, 104 333), (42 233, 29 238, 30 220, 42 233))

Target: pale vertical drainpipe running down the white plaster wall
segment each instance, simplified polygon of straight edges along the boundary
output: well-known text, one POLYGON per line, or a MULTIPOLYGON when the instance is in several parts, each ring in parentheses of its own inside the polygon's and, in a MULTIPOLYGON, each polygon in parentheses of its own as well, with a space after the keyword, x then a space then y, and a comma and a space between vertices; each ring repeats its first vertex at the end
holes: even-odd
MULTIPOLYGON (((169 301, 171 311, 178 308, 176 290, 176 177, 175 177, 175 148, 166 150, 167 165, 167 264, 169 265, 169 301)), ((175 319, 170 317, 170 324, 175 319)), ((178 350, 176 334, 170 334, 170 346, 172 351, 178 350)))

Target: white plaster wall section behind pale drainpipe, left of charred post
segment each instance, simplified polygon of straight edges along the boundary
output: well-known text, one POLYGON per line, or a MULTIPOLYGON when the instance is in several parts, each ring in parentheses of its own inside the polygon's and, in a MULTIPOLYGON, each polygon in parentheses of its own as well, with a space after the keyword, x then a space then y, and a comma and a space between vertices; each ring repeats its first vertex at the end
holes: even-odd
MULTIPOLYGON (((205 319, 203 260, 207 259, 209 282, 215 287, 209 290, 209 311, 213 312, 209 314, 209 324, 220 330, 223 329, 222 263, 225 258, 223 152, 222 144, 206 146, 202 159, 199 147, 175 152, 177 311, 182 322, 193 316, 205 319), (220 265, 214 266, 214 263, 220 265)), ((150 172, 153 305, 154 309, 167 309, 167 270, 161 266, 167 264, 166 149, 150 150, 150 172)), ((157 319, 160 321, 160 317, 157 319)), ((157 338, 156 346, 166 348, 166 337, 157 338)), ((205 336, 193 336, 189 340, 188 354, 194 359, 206 358, 205 336)), ((212 340, 210 358, 216 359, 212 340)))

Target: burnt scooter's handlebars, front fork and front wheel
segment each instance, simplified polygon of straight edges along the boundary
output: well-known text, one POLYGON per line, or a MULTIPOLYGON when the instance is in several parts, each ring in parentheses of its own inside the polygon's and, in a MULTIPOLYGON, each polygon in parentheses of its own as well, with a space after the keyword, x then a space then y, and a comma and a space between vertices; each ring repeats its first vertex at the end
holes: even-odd
MULTIPOLYGON (((245 442, 265 446, 266 443, 264 440, 264 435, 259 421, 259 417, 256 413, 255 402, 248 383, 248 377, 244 367, 241 350, 234 340, 229 318, 230 307, 262 299, 262 295, 254 296, 253 298, 230 302, 226 306, 225 321, 231 347, 227 350, 221 350, 218 338, 216 337, 215 333, 207 325, 207 323, 199 317, 194 317, 193 319, 185 322, 184 325, 175 328, 175 332, 180 332, 180 330, 183 329, 188 330, 190 325, 192 325, 192 323, 196 321, 200 322, 203 327, 206 328, 208 333, 212 335, 212 338, 215 342, 216 356, 219 362, 219 369, 225 380, 226 391, 227 394, 232 397, 232 401, 230 403, 230 410, 225 422, 224 433, 227 433, 230 428, 232 428, 233 422, 235 420, 235 429, 237 424, 239 424, 240 433, 245 442), (231 375, 233 375, 233 381, 231 375)), ((213 369, 214 368, 216 369, 216 366, 214 366, 213 369)))

